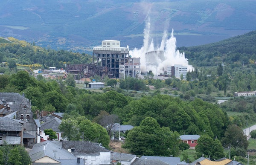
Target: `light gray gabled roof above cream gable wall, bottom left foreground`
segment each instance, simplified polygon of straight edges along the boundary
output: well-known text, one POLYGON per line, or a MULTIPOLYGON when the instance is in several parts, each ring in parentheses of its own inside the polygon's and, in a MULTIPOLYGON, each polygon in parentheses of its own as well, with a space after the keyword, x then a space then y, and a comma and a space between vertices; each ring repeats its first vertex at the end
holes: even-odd
MULTIPOLYGON (((32 159, 32 162, 35 162, 38 159, 48 156, 51 159, 54 159, 57 162, 60 162, 61 165, 76 165, 77 157, 73 156, 70 152, 61 148, 61 142, 59 141, 45 141, 37 143, 33 146, 32 150, 29 151, 29 156, 32 159), (56 151, 56 156, 54 157, 54 152, 56 151)), ((83 165, 83 161, 80 161, 80 165, 83 165)))

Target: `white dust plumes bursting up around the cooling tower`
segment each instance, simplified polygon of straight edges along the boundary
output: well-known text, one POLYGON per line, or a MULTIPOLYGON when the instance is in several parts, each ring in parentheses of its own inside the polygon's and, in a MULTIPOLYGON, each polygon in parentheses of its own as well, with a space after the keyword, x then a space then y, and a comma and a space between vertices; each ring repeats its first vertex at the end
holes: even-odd
POLYGON ((174 66, 175 64, 180 64, 186 66, 188 71, 192 71, 192 65, 188 64, 188 59, 185 58, 185 54, 180 53, 176 50, 176 38, 172 34, 168 38, 168 33, 165 31, 163 33, 162 41, 160 46, 154 46, 153 38, 150 36, 150 19, 148 18, 145 23, 144 29, 144 40, 143 46, 140 49, 130 50, 130 55, 133 58, 140 58, 141 72, 152 71, 154 75, 164 73, 167 67, 174 66), (153 52, 153 54, 146 56, 146 53, 153 52), (163 55, 157 55, 157 52, 163 52, 163 55), (156 53, 156 54, 154 54, 156 53))

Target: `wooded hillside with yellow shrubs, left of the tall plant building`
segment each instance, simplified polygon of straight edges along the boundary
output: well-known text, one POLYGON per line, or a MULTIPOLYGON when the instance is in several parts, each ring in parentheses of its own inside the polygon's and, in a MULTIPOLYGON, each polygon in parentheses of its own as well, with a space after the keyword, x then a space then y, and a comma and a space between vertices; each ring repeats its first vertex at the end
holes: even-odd
POLYGON ((0 62, 11 61, 22 65, 39 64, 40 69, 46 69, 65 68, 65 64, 91 63, 92 58, 84 53, 42 48, 35 43, 19 41, 12 37, 0 38, 0 62))

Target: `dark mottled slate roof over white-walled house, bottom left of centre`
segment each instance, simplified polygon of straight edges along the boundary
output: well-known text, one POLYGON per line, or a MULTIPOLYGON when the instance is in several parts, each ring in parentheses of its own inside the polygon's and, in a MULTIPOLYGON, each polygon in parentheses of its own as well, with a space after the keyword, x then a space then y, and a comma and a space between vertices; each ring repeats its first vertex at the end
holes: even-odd
POLYGON ((76 156, 100 155, 100 152, 111 152, 98 143, 85 141, 63 141, 62 147, 66 150, 71 148, 75 149, 75 152, 72 153, 76 156))

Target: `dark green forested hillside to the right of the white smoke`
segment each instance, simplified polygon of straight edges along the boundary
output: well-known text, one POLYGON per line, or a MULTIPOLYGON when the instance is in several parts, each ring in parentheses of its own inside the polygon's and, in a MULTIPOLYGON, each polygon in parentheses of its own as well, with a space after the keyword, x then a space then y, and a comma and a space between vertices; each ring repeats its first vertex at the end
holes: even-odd
POLYGON ((202 46, 181 47, 196 67, 217 66, 256 68, 256 31, 202 46))

